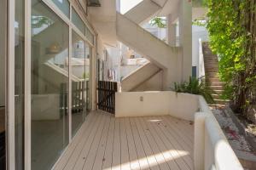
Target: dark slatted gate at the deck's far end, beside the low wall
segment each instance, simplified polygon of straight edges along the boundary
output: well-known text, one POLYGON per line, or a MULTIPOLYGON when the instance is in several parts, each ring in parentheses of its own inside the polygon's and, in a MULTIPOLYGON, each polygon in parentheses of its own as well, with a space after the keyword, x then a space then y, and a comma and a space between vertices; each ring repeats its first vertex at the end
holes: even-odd
POLYGON ((115 93, 118 89, 117 82, 98 81, 98 109, 115 113, 115 93))

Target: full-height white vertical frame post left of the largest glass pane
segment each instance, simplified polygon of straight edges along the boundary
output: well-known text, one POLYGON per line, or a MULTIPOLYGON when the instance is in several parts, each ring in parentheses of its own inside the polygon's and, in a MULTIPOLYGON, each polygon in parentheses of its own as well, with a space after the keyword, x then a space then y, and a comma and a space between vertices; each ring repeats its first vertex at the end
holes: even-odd
POLYGON ((31 169, 31 0, 25 0, 24 165, 31 169))

